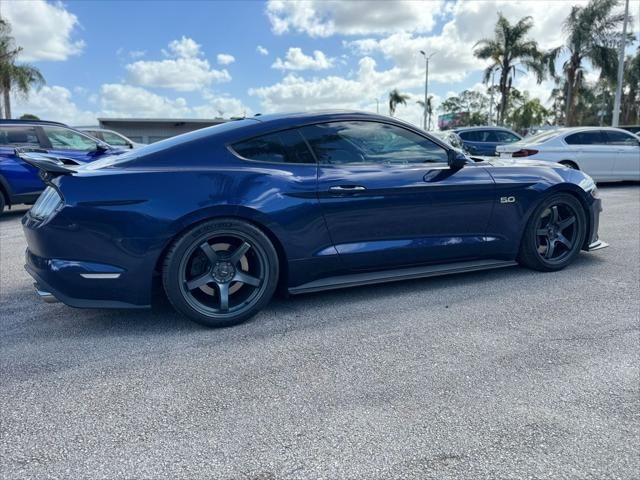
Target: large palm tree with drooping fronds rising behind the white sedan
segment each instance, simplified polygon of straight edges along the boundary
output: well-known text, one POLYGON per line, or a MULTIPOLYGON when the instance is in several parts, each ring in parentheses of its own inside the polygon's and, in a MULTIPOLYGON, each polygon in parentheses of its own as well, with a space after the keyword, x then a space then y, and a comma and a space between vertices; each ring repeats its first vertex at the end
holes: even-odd
POLYGON ((601 78, 615 81, 617 68, 616 41, 620 40, 618 27, 624 13, 613 13, 619 0, 591 0, 586 6, 574 6, 564 21, 567 34, 565 45, 554 48, 546 56, 547 65, 555 76, 555 61, 561 54, 569 58, 562 66, 566 98, 565 125, 576 122, 576 100, 584 87, 584 61, 600 69, 601 78))

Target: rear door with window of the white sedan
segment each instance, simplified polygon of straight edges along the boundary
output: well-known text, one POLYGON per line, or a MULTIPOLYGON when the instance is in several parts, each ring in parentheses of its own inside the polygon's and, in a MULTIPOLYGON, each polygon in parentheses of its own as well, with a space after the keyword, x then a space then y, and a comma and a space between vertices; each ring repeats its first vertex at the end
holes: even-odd
POLYGON ((564 138, 564 142, 575 152, 575 159, 581 170, 599 181, 613 178, 617 154, 611 145, 607 145, 602 130, 572 133, 564 138))

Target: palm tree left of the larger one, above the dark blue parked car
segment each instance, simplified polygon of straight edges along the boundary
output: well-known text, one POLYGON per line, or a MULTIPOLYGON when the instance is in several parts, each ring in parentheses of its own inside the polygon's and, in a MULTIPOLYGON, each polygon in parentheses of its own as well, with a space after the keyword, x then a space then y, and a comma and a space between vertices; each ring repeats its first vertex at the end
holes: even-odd
POLYGON ((536 80, 541 83, 544 79, 543 54, 538 50, 535 40, 526 38, 533 27, 533 19, 525 17, 512 25, 502 13, 498 13, 494 38, 484 38, 474 45, 473 54, 492 63, 484 71, 484 83, 488 83, 493 72, 500 70, 500 106, 498 108, 498 123, 505 120, 509 107, 509 94, 513 78, 519 65, 535 73, 536 80))

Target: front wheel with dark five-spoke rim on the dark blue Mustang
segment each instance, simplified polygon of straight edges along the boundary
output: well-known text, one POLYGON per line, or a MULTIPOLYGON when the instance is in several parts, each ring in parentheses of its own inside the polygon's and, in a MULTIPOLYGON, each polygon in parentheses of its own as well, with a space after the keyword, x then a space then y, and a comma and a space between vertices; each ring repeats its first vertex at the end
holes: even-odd
POLYGON ((518 261, 543 272, 561 270, 580 253, 587 232, 586 214, 573 195, 544 199, 527 222, 518 261))

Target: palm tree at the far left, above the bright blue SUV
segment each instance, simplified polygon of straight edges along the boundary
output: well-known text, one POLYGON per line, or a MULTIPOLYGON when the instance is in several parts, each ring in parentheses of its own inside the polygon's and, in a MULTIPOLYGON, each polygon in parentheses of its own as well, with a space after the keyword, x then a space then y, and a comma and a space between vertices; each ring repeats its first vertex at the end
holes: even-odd
POLYGON ((11 91, 27 96, 32 87, 44 84, 40 70, 30 65, 16 65, 22 51, 15 46, 11 26, 0 19, 0 90, 4 101, 4 117, 11 118, 11 91))

